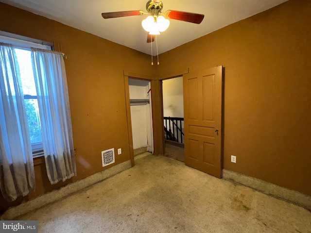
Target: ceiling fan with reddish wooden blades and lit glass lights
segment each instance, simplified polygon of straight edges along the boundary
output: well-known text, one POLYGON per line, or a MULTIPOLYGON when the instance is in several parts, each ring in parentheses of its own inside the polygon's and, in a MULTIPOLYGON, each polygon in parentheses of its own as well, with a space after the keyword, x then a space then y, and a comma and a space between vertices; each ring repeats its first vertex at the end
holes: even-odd
POLYGON ((109 12, 102 13, 103 18, 117 18, 127 16, 141 16, 149 14, 146 19, 142 21, 142 27, 148 32, 150 36, 147 36, 147 43, 155 40, 155 35, 164 32, 170 25, 170 19, 176 19, 186 21, 190 23, 200 24, 204 18, 204 15, 168 10, 162 13, 163 3, 160 0, 149 0, 146 4, 147 12, 143 11, 120 11, 120 12, 109 12))

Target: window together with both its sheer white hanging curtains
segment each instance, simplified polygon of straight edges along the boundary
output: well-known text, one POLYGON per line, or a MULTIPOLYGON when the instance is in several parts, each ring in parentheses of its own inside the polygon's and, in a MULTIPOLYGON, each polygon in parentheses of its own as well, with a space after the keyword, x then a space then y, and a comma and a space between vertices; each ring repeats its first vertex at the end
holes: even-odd
POLYGON ((44 155, 52 184, 75 176, 76 166, 65 54, 6 34, 0 32, 0 186, 16 200, 35 187, 33 155, 44 155))

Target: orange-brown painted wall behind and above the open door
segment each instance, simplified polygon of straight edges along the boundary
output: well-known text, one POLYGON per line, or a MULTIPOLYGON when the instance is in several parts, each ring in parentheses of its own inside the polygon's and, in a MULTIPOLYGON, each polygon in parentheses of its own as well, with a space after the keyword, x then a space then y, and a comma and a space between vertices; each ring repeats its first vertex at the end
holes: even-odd
POLYGON ((161 54, 157 74, 224 66, 224 168, 307 195, 310 25, 311 1, 290 0, 161 54))

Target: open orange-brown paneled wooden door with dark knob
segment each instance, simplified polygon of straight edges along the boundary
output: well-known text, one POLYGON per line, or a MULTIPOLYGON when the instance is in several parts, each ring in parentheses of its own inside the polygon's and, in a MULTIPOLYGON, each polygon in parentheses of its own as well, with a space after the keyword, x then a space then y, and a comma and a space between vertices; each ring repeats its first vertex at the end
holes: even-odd
POLYGON ((222 66, 185 74, 185 164, 222 177, 222 66))

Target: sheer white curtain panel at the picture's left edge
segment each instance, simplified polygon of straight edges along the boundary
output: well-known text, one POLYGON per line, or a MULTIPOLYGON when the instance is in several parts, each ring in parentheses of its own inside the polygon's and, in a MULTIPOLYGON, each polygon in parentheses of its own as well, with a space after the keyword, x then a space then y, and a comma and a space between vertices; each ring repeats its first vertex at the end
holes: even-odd
POLYGON ((16 54, 1 44, 0 90, 0 188, 13 201, 35 188, 35 172, 16 54))

